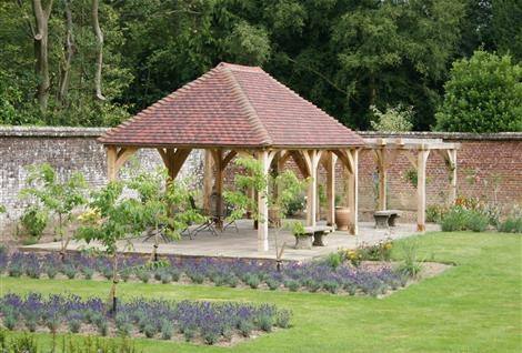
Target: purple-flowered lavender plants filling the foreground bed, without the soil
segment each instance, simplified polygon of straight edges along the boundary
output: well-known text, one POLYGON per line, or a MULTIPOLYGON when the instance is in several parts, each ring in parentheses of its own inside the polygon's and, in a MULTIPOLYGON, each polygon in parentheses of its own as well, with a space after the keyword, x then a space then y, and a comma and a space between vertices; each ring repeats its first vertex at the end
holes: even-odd
MULTIPOLYGON (((27 296, 3 295, 0 297, 0 313, 2 316, 13 315, 18 321, 17 329, 27 326, 28 322, 36 322, 42 329, 44 325, 59 327, 67 322, 77 321, 80 330, 83 324, 92 323, 102 335, 108 333, 109 326, 118 325, 138 329, 148 339, 154 339, 161 332, 165 340, 173 335, 174 326, 179 332, 194 329, 208 344, 222 340, 227 330, 237 330, 243 321, 253 323, 257 330, 268 332, 278 323, 288 326, 288 319, 278 321, 277 317, 290 315, 285 310, 269 304, 134 299, 121 303, 116 320, 108 315, 99 297, 82 300, 76 295, 51 295, 46 299, 39 293, 29 293, 27 296)), ((68 325, 68 329, 72 332, 78 327, 72 326, 71 330, 71 325, 68 325)))

